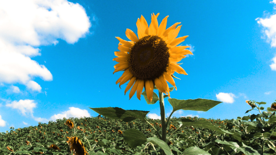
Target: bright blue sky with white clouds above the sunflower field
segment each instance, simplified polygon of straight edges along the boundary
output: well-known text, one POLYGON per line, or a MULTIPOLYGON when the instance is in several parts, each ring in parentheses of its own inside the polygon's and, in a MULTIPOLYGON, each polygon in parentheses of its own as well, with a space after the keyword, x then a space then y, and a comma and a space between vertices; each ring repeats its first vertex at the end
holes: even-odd
MULTIPOLYGON (((0 132, 63 117, 97 116, 91 108, 148 110, 124 95, 126 84, 113 75, 116 36, 137 34, 136 21, 169 15, 167 28, 181 22, 178 37, 194 55, 181 66, 188 75, 175 79, 171 98, 222 101, 207 112, 173 116, 232 119, 250 109, 245 100, 276 100, 276 1, 0 1, 0 132), (15 6, 15 4, 18 4, 15 6), (19 5, 20 4, 20 5, 19 5), (20 6, 20 7, 19 7, 20 6)), ((165 99, 165 110, 172 107, 165 99)), ((250 111, 251 114, 254 111, 250 111)))

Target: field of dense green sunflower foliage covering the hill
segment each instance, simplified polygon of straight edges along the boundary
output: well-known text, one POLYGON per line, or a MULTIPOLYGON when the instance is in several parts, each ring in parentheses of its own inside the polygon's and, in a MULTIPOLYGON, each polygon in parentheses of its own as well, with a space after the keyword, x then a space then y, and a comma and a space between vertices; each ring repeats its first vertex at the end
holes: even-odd
MULTIPOLYGON (((232 120, 197 117, 171 118, 169 147, 174 155, 276 155, 276 116, 270 108, 262 111, 264 102, 257 103, 258 115, 232 120), (190 123, 193 126, 189 126, 190 123), (195 123, 198 122, 198 123, 195 123), (180 124, 183 127, 179 128, 180 124), (199 148, 199 149, 198 149, 199 148)), ((254 107, 255 108, 255 107, 254 107)), ((252 108, 252 109, 254 109, 252 108)), ((252 110, 250 109, 250 110, 252 110)), ((250 111, 247 110, 246 112, 250 111)), ((245 114, 246 115, 246 114, 245 114)), ((153 143, 131 148, 123 139, 124 131, 138 129, 147 138, 156 137, 153 128, 136 119, 125 123, 107 117, 70 118, 25 128, 10 128, 0 135, 0 155, 73 155, 66 137, 77 136, 89 155, 156 155, 161 148, 153 143), (121 132, 122 131, 122 132, 121 132), (60 150, 49 148, 56 144, 60 150)), ((159 132, 161 121, 147 119, 159 132)))

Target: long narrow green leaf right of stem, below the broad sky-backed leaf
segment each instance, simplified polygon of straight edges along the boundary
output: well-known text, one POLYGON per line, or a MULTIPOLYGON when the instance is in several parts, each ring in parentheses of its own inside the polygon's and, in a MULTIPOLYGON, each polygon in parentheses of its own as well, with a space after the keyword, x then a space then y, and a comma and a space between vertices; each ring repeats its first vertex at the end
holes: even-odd
POLYGON ((200 121, 194 122, 189 119, 182 119, 181 122, 179 122, 179 123, 180 123, 181 128, 183 128, 185 126, 197 126, 197 127, 204 127, 204 128, 208 128, 208 129, 217 131, 220 134, 230 134, 230 135, 233 134, 229 131, 226 131, 224 129, 216 127, 215 125, 213 125, 210 122, 205 121, 205 120, 200 120, 200 121))

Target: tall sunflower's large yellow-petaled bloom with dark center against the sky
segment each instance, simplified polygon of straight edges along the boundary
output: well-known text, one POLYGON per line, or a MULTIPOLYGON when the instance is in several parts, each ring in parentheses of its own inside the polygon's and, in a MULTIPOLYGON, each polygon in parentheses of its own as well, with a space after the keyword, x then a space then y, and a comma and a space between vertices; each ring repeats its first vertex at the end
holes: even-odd
POLYGON ((188 46, 177 45, 188 36, 176 38, 181 28, 181 25, 178 27, 177 25, 180 23, 175 23, 166 29, 168 16, 158 27, 158 15, 159 13, 152 15, 150 26, 143 16, 138 18, 136 22, 138 37, 133 31, 126 29, 126 37, 131 41, 116 37, 120 42, 118 45, 120 51, 115 52, 117 58, 113 61, 119 63, 114 66, 113 74, 124 71, 116 84, 120 83, 121 88, 122 84, 129 81, 124 91, 125 94, 132 87, 129 99, 137 92, 137 98, 140 100, 142 90, 145 88, 147 98, 152 101, 154 85, 159 91, 169 95, 166 81, 177 89, 172 78, 174 72, 187 75, 177 62, 185 58, 184 55, 193 53, 186 49, 188 46))

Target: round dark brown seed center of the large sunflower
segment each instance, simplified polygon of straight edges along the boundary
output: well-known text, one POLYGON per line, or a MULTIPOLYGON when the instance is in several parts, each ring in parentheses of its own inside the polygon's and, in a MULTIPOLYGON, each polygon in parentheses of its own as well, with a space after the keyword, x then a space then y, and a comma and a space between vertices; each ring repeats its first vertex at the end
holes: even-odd
POLYGON ((156 35, 145 36, 131 48, 128 62, 134 77, 141 80, 159 78, 169 65, 169 47, 156 35))

